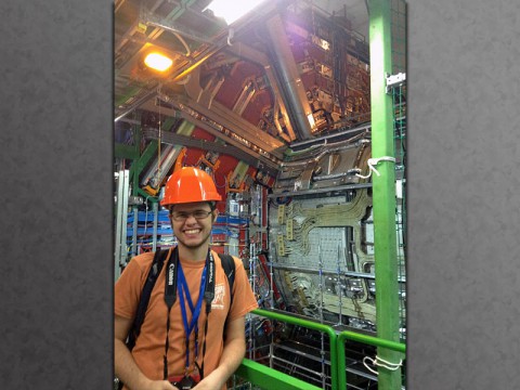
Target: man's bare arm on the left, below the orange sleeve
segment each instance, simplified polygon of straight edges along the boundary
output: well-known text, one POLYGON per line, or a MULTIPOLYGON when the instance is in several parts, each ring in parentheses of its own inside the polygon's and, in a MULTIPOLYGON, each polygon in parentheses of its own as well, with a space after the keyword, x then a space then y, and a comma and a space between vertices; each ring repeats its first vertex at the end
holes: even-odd
POLYGON ((132 321, 114 316, 114 360, 116 376, 131 390, 176 390, 168 380, 152 380, 139 369, 125 341, 132 321))

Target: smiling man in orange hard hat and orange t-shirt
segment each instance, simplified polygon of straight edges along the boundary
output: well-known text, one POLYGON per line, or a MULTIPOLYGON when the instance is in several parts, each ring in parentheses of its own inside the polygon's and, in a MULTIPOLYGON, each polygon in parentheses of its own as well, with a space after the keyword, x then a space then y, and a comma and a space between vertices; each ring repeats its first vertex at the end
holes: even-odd
POLYGON ((154 253, 134 257, 116 283, 115 374, 127 389, 225 389, 245 355, 245 315, 258 303, 234 259, 231 304, 220 258, 209 248, 218 200, 213 180, 199 169, 184 167, 169 178, 160 204, 170 211, 178 246, 165 260, 131 352, 125 341, 154 253))

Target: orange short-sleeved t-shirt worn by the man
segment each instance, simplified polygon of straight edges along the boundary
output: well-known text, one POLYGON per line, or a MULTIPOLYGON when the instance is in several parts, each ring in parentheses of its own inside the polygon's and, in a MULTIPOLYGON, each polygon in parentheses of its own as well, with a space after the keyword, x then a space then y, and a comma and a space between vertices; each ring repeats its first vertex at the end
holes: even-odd
MULTIPOLYGON (((214 299, 211 303, 211 312, 208 317, 208 330, 206 336, 206 353, 204 355, 204 373, 209 375, 218 367, 222 355, 224 342, 223 332, 226 317, 233 321, 246 315, 258 308, 257 300, 249 285, 246 270, 242 260, 235 260, 235 282, 233 284, 233 307, 230 310, 230 285, 222 269, 220 258, 216 251, 211 251, 216 264, 214 299), (227 315, 229 312, 229 315, 227 315)), ((135 315, 141 291, 148 274, 153 252, 134 257, 127 265, 116 282, 115 314, 125 318, 135 315)), ((182 270, 190 287, 190 295, 195 303, 198 299, 200 278, 205 261, 191 262, 180 259, 182 270)), ((167 335, 168 307, 165 302, 165 281, 167 261, 156 281, 150 298, 148 308, 141 327, 141 334, 132 350, 133 359, 144 375, 151 379, 162 379, 164 355, 167 335)), ((192 320, 192 313, 186 302, 187 322, 192 320)), ((200 366, 203 361, 204 326, 206 322, 206 303, 203 301, 198 318, 198 356, 200 366)), ((185 330, 179 303, 179 286, 177 300, 170 311, 170 332, 168 334, 168 376, 182 376, 185 366, 185 330)), ((190 368, 194 369, 195 333, 190 336, 190 368)), ((224 387, 225 388, 225 387, 224 387)))

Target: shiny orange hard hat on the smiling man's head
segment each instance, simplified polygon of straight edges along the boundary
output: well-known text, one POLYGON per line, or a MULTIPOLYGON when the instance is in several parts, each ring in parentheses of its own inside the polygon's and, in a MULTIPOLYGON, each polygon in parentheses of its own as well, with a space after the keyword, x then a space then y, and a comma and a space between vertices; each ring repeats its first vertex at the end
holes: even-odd
POLYGON ((204 170, 183 167, 173 172, 166 182, 161 206, 192 202, 222 200, 213 179, 204 170))

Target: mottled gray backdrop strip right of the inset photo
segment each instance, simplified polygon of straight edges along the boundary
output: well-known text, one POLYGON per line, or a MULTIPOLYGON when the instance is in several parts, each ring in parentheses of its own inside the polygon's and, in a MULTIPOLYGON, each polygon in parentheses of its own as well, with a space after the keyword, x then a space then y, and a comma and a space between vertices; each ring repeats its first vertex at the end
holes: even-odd
POLYGON ((410 389, 518 389, 520 2, 408 2, 410 389))

